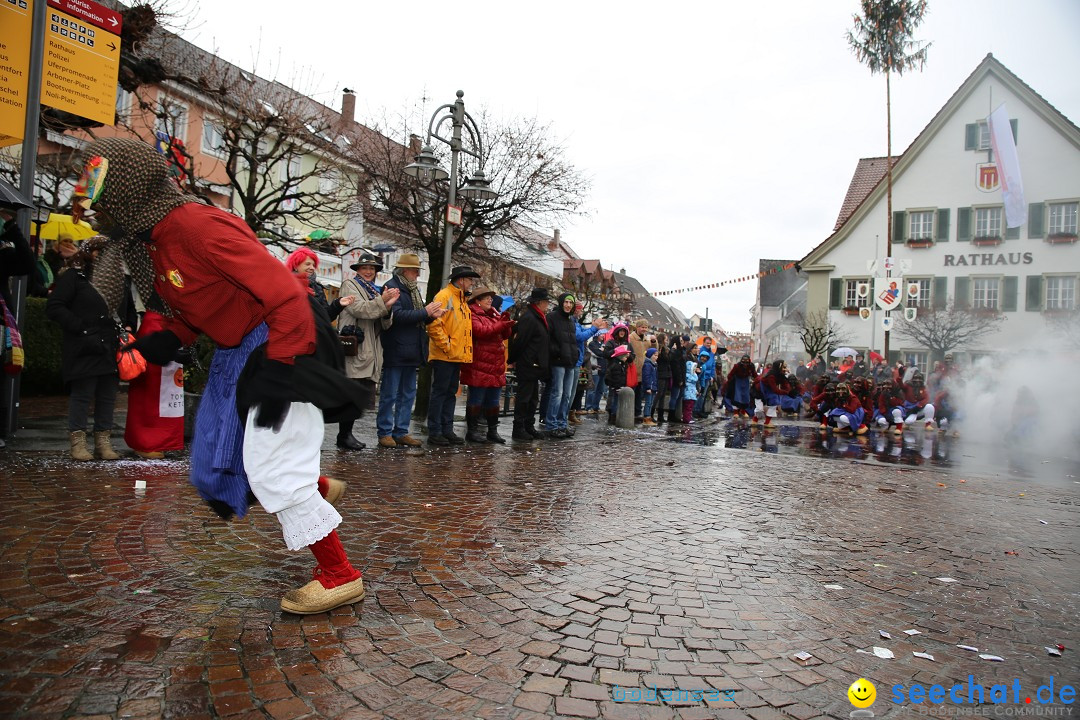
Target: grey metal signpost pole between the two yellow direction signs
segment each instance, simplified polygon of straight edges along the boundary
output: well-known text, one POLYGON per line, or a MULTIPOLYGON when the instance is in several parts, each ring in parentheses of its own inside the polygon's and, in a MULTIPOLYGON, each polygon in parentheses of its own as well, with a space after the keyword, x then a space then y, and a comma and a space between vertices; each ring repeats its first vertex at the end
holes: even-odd
MULTIPOLYGON (((26 124, 23 133, 23 155, 19 168, 18 187, 26 198, 33 198, 33 177, 38 165, 38 123, 41 121, 41 72, 45 46, 45 13, 48 11, 45 0, 33 0, 33 26, 30 36, 30 67, 27 72, 26 87, 26 124)), ((30 214, 32 208, 25 207, 18 212, 18 229, 23 231, 25 237, 30 236, 30 214)), ((15 324, 19 331, 26 329, 26 275, 14 279, 12 287, 12 301, 14 308, 11 313, 15 316, 15 324)), ((19 403, 19 377, 8 376, 4 378, 8 383, 4 395, 9 398, 8 417, 4 418, 8 434, 13 435, 18 423, 19 403)))

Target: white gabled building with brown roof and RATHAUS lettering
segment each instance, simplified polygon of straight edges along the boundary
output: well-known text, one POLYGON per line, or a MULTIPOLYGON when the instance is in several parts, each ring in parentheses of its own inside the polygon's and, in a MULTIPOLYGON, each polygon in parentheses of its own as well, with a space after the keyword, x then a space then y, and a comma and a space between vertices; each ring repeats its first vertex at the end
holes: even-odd
MULTIPOLYGON (((916 312, 951 304, 1003 314, 999 329, 961 350, 978 355, 1039 347, 1055 316, 1077 312, 1080 285, 1080 128, 993 55, 954 93, 893 164, 892 217, 887 216, 883 158, 859 161, 834 232, 800 261, 808 312, 827 310, 856 349, 880 349, 883 311, 863 283, 881 272, 888 223, 892 257, 916 312), (1004 104, 1023 174, 1028 218, 1007 228, 986 118, 1004 104), (986 168, 990 167, 989 171, 986 168), (988 177, 989 174, 989 177, 988 177), (987 180, 990 180, 989 182, 987 180), (872 266, 877 260, 877 267, 872 266)), ((872 285, 873 287, 873 285, 872 285)), ((928 349, 896 332, 890 354, 923 368, 928 349)))

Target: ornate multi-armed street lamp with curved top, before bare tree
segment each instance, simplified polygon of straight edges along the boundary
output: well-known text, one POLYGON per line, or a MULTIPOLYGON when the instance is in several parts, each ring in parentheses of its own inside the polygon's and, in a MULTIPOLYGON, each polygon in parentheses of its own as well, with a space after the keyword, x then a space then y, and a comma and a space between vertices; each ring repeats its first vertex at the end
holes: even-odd
POLYGON ((480 128, 476 126, 476 121, 472 119, 468 112, 465 112, 465 104, 461 98, 464 97, 464 92, 458 91, 458 99, 454 101, 453 105, 444 105, 435 109, 435 112, 431 116, 431 121, 428 123, 428 137, 423 147, 420 149, 420 154, 416 157, 414 162, 405 166, 404 172, 409 177, 415 177, 422 185, 431 185, 432 182, 437 182, 449 178, 450 189, 449 198, 447 200, 447 217, 444 218, 446 226, 445 235, 445 246, 443 248, 443 285, 446 285, 450 280, 450 256, 454 250, 454 226, 459 225, 459 222, 450 221, 450 213, 454 209, 459 209, 456 207, 455 203, 458 200, 458 158, 460 153, 465 153, 472 158, 476 159, 480 163, 480 169, 473 173, 473 176, 469 178, 465 185, 461 188, 461 195, 468 198, 469 200, 494 200, 499 196, 499 193, 491 189, 490 182, 484 176, 484 146, 480 139, 480 128), (445 111, 445 114, 440 114, 445 111), (450 123, 453 133, 449 138, 440 135, 440 130, 447 122, 450 123), (470 145, 464 146, 461 141, 461 128, 464 127, 467 134, 469 135, 470 145), (434 148, 431 145, 432 138, 450 146, 450 172, 449 174, 443 169, 442 165, 438 164, 438 159, 435 157, 434 148))

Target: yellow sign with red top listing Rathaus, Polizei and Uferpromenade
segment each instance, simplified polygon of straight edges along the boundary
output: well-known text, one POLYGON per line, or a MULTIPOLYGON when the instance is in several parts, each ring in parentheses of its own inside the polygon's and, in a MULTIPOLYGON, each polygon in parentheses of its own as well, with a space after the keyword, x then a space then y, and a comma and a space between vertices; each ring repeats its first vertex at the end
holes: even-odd
POLYGON ((49 0, 41 104, 113 124, 121 16, 93 0, 49 0))

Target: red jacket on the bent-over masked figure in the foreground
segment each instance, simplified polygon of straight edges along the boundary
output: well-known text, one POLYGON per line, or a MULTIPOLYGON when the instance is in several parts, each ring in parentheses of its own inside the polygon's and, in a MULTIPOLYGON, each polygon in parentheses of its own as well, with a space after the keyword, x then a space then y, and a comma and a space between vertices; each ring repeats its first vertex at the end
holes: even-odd
POLYGON ((237 216, 202 203, 180 205, 154 226, 147 249, 153 287, 173 308, 165 329, 184 344, 202 331, 234 348, 266 323, 270 359, 292 365, 314 352, 307 290, 237 216))

